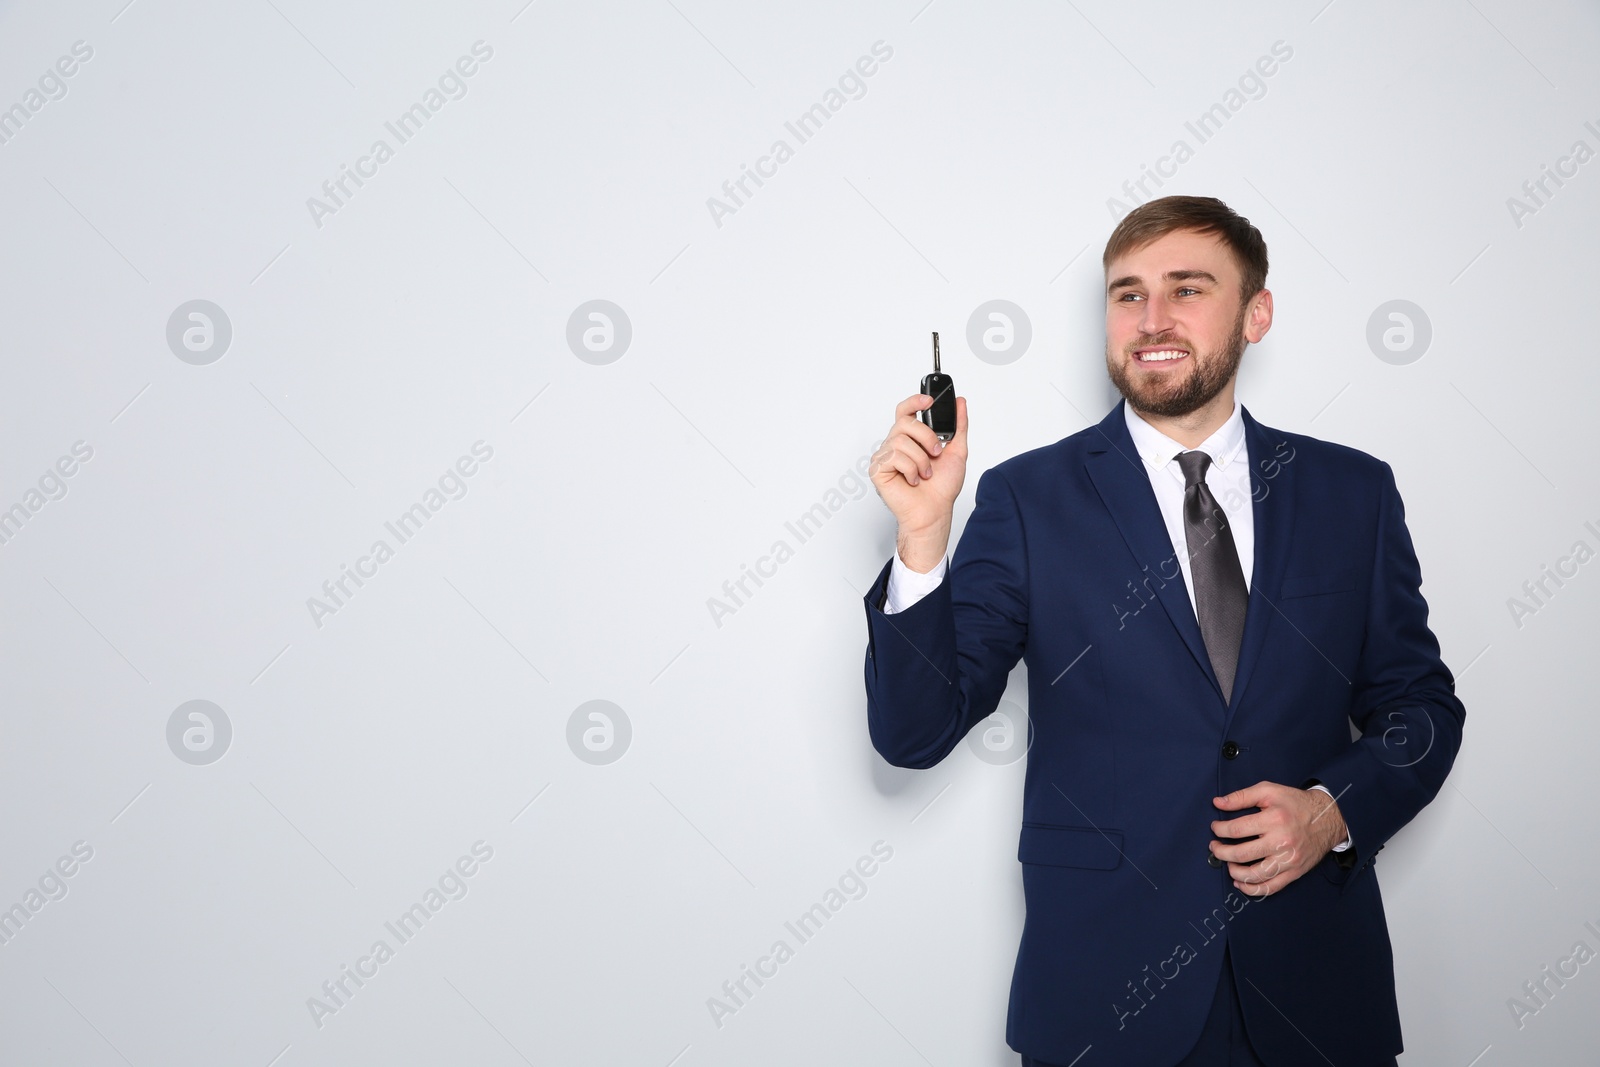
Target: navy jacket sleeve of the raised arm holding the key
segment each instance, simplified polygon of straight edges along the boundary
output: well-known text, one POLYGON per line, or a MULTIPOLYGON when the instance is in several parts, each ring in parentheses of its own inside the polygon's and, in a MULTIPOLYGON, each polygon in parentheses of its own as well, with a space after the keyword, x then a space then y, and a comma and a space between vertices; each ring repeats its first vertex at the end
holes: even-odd
POLYGON ((896 766, 933 766, 994 712, 1027 641, 1027 549, 1016 498, 990 469, 938 589, 880 611, 890 565, 867 590, 867 731, 896 766))

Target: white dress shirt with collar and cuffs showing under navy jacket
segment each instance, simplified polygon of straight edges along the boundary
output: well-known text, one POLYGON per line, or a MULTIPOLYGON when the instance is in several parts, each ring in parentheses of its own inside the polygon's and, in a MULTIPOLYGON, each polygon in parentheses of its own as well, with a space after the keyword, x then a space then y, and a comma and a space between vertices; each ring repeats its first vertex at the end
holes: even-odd
MULTIPOLYGON (((1238 398, 1234 400, 1234 413, 1227 422, 1219 426, 1211 437, 1200 442, 1195 451, 1211 458, 1206 467, 1205 483, 1227 515, 1227 525, 1234 531, 1234 545, 1238 549, 1240 569, 1245 573, 1245 589, 1250 589, 1251 573, 1256 563, 1256 515, 1251 509, 1250 496, 1250 448, 1245 445, 1245 416, 1238 398)), ((1162 522, 1166 523, 1166 536, 1173 545, 1184 545, 1184 550, 1173 552, 1178 566, 1184 574, 1184 590, 1189 593, 1189 606, 1195 606, 1195 582, 1189 571, 1189 536, 1184 533, 1184 470, 1178 464, 1178 453, 1189 451, 1158 429, 1146 422, 1133 406, 1123 402, 1122 414, 1128 422, 1128 435, 1144 464, 1144 474, 1150 478, 1150 490, 1155 491, 1155 502, 1162 509, 1162 522)), ((1131 456, 1128 458, 1133 459, 1131 456)), ((1163 560, 1165 563, 1165 560, 1163 560)), ((899 552, 890 563, 888 595, 885 597, 885 614, 904 611, 931 593, 944 581, 944 571, 950 565, 950 553, 946 552, 926 574, 920 574, 901 561, 899 552)), ((1157 568, 1160 569, 1160 568, 1157 568)), ((1171 573, 1171 571, 1168 571, 1171 573)), ((1195 608, 1195 617, 1200 617, 1195 608)), ((1333 795, 1325 785, 1312 785, 1333 795)), ((1350 838, 1334 845, 1333 851, 1342 853, 1350 848, 1350 838)))

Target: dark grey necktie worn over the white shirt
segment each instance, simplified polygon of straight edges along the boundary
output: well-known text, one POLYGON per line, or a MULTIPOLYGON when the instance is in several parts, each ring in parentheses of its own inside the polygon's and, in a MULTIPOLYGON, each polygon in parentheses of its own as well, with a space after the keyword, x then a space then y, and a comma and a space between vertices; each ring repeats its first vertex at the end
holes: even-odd
POLYGON ((1238 565, 1238 547, 1227 515, 1205 483, 1211 458, 1198 451, 1178 453, 1178 466, 1184 470, 1184 536, 1189 541, 1189 573, 1195 584, 1200 637, 1205 638, 1211 670, 1222 686, 1222 699, 1232 701, 1238 645, 1245 637, 1245 608, 1250 603, 1245 571, 1238 565))

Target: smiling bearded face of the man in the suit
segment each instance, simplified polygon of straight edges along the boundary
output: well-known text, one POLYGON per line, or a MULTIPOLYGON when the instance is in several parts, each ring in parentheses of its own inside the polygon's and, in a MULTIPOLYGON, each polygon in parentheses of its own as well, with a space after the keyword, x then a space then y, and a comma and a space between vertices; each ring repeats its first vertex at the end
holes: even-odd
POLYGON ((1136 411, 1205 406, 1272 323, 1266 290, 1240 304, 1238 262, 1216 234, 1158 237, 1114 259, 1106 282, 1106 370, 1136 411))

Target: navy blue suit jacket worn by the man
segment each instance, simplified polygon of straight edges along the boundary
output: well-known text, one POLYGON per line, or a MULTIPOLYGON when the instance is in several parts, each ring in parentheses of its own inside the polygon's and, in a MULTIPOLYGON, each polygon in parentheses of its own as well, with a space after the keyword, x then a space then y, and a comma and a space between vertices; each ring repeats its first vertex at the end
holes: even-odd
POLYGON ((883 614, 888 565, 866 595, 867 726, 896 766, 949 755, 1027 664, 1006 1041, 1046 1062, 1178 1062, 1224 944, 1266 1062, 1402 1051, 1373 859, 1438 793, 1466 709, 1389 464, 1243 419, 1256 547, 1232 702, 1122 405, 986 470, 928 597, 883 614), (1326 785, 1354 848, 1250 899, 1208 862, 1211 821, 1245 813, 1211 798, 1261 781, 1326 785))

